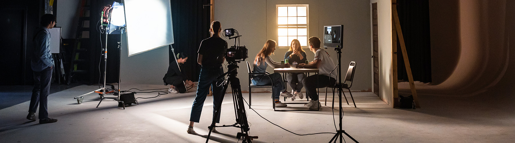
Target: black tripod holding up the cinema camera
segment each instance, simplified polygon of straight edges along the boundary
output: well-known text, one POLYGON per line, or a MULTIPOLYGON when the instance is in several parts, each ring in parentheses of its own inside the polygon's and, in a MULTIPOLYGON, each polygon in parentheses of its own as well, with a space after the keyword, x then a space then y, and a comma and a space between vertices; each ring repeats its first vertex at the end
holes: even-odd
MULTIPOLYGON (((241 132, 236 134, 236 138, 242 139, 243 140, 242 142, 252 142, 252 139, 258 138, 258 136, 249 136, 249 134, 248 134, 248 131, 250 129, 249 129, 249 123, 247 121, 247 113, 245 111, 245 105, 243 102, 242 89, 241 89, 241 85, 239 84, 239 79, 236 78, 236 75, 238 74, 237 70, 236 70, 238 68, 238 65, 236 62, 229 62, 229 65, 227 65, 227 68, 228 68, 227 73, 219 76, 218 79, 224 78, 225 75, 228 74, 229 78, 227 78, 227 81, 224 81, 221 86, 224 87, 223 91, 225 94, 225 92, 227 91, 228 84, 231 84, 232 99, 233 99, 233 103, 234 103, 234 113, 236 116, 236 122, 231 125, 215 126, 216 119, 220 116, 222 101, 224 100, 224 96, 222 96, 220 102, 217 103, 218 106, 217 106, 217 109, 215 109, 215 113, 214 113, 215 116, 213 117, 213 122, 211 123, 211 126, 208 127, 209 134, 208 134, 208 138, 205 140, 205 142, 207 143, 209 141, 209 137, 211 136, 211 132, 213 131, 214 127, 240 128, 241 132)), ((218 85, 218 83, 217 83, 217 85, 218 85)))

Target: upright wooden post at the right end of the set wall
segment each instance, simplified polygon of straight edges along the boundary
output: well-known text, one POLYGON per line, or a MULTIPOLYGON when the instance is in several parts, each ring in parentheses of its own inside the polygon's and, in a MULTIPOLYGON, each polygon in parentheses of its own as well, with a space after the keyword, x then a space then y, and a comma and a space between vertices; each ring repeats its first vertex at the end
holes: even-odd
MULTIPOLYGON (((392 3, 397 3, 397 0, 392 0, 391 1, 392 3)), ((397 6, 396 5, 391 5, 391 9, 397 9, 397 6)), ((393 20, 393 16, 392 16, 392 21, 391 21, 391 24, 392 24, 392 27, 391 27, 391 31, 397 31, 397 28, 395 26, 395 22, 393 20)), ((392 50, 392 54, 391 54, 391 57, 392 57, 392 70, 393 70, 393 98, 392 98, 392 107, 393 108, 397 108, 400 106, 400 102, 399 102, 399 84, 398 84, 398 71, 397 71, 397 32, 391 32, 391 50, 392 50)))

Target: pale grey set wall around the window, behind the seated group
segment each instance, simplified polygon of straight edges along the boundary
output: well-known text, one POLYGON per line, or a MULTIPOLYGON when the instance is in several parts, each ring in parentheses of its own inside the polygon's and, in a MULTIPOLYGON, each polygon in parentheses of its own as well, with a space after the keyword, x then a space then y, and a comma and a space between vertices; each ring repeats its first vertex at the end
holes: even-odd
MULTIPOLYGON (((277 41, 276 5, 308 4, 308 37, 322 37, 324 25, 344 25, 344 49, 342 50, 342 71, 355 61, 356 74, 353 91, 371 91, 371 50, 370 50, 370 1, 220 1, 215 0, 215 20, 220 21, 222 29, 234 28, 243 35, 241 45, 249 49, 247 61, 253 62, 255 55, 263 48, 266 40, 277 41)), ((228 41, 229 45, 233 40, 228 41)), ((314 53, 304 47, 307 59, 312 61, 314 53)), ((277 49, 272 59, 281 61, 288 49, 277 49)), ((336 62, 336 51, 326 49, 336 62)), ((246 64, 239 64, 238 78, 242 90, 248 91, 246 64)), ((273 69, 268 68, 272 73, 273 69)), ((290 89, 290 87, 288 87, 290 89)), ((271 90, 271 89, 268 89, 271 90)))

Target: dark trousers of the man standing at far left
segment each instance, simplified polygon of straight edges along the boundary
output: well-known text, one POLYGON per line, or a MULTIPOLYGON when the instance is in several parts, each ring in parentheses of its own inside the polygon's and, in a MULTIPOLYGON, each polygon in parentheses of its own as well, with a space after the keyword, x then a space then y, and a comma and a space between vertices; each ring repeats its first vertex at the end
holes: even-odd
POLYGON ((47 67, 39 72, 33 71, 34 88, 30 98, 29 112, 36 113, 39 104, 39 119, 48 117, 48 95, 50 94, 50 79, 52 79, 52 68, 47 67))

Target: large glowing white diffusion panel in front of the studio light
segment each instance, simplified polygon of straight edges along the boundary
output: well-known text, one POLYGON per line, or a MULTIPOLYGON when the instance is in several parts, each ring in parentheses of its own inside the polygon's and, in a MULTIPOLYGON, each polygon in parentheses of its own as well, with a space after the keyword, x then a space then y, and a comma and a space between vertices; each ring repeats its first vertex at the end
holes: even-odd
POLYGON ((129 56, 174 43, 170 0, 125 0, 129 56))

